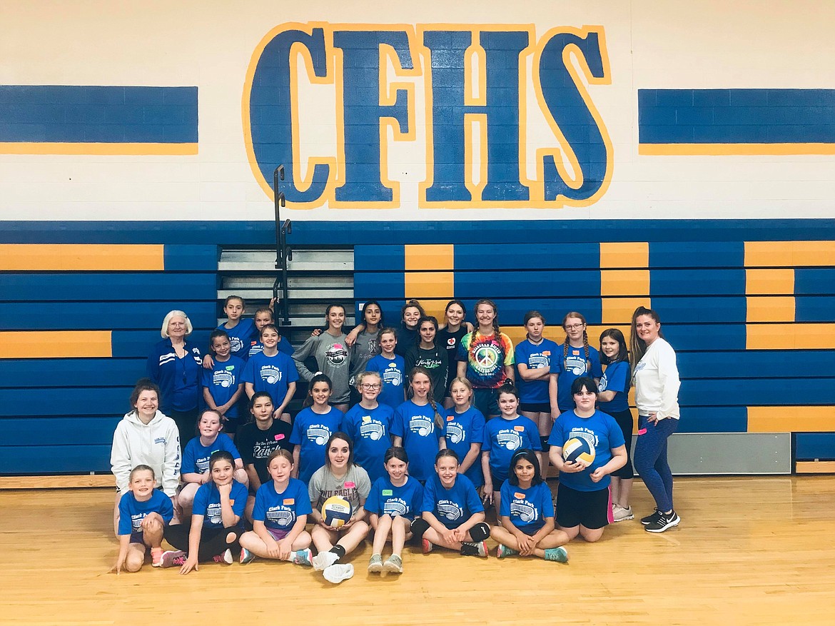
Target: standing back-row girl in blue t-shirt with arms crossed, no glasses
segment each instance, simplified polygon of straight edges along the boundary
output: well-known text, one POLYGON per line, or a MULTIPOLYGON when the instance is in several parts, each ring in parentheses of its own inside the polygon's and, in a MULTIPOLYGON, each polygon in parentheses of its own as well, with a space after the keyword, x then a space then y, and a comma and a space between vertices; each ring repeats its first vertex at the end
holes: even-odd
MULTIPOLYGON (((519 413, 533 420, 539 427, 539 442, 544 443, 551 434, 557 408, 557 378, 562 369, 559 346, 545 339, 545 318, 538 310, 529 310, 524 316, 524 341, 516 345, 516 384, 519 386, 519 413)), ((542 475, 547 476, 548 457, 542 455, 542 475)))

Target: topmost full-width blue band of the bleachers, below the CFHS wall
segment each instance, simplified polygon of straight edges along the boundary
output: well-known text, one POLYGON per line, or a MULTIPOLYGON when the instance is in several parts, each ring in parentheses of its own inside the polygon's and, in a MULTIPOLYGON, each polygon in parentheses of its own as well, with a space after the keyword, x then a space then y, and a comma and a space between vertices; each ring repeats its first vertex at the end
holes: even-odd
MULTIPOLYGON (((594 209, 592 209, 594 213, 594 209)), ((293 216, 293 245, 377 244, 381 233, 401 244, 601 241, 835 240, 835 220, 498 220, 305 221, 293 216), (650 227, 651 224, 651 227, 650 227)), ((5 244, 275 245, 272 221, 4 221, 5 244)))

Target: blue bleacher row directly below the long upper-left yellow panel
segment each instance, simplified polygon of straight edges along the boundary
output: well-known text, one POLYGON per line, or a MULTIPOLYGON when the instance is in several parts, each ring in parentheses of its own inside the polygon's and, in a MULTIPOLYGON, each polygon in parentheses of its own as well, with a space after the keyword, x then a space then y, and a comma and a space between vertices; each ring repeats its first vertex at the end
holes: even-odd
MULTIPOLYGON (((3 300, 7 301, 206 300, 216 297, 217 288, 218 280, 214 270, 205 274, 0 274, 0 293, 3 293, 3 300)), ((162 308, 160 305, 154 306, 157 310, 162 308)), ((167 312, 163 311, 162 315, 167 312)), ((186 312, 189 311, 186 309, 186 312)))

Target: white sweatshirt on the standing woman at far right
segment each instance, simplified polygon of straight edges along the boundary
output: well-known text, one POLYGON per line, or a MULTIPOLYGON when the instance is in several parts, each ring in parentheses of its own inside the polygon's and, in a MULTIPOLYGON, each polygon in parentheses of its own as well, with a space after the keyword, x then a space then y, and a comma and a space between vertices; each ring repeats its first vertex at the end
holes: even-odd
POLYGON ((655 413, 660 419, 681 416, 678 391, 681 381, 676 366, 676 351, 663 337, 659 337, 646 349, 635 366, 635 404, 639 415, 655 413))

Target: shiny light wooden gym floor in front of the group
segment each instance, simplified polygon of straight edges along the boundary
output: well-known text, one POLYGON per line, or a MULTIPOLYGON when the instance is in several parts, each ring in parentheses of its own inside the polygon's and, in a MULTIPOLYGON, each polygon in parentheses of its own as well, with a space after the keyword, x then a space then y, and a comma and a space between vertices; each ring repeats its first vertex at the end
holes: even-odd
MULTIPOLYGON (((640 481, 633 500, 651 511, 640 481)), ((568 565, 407 548, 406 573, 380 578, 366 543, 340 585, 263 560, 116 576, 112 505, 111 489, 0 491, 0 623, 835 623, 835 477, 679 478, 679 528, 618 523, 568 565)))

